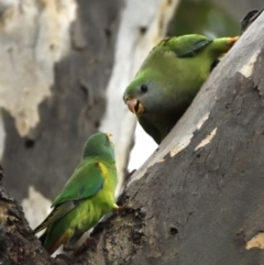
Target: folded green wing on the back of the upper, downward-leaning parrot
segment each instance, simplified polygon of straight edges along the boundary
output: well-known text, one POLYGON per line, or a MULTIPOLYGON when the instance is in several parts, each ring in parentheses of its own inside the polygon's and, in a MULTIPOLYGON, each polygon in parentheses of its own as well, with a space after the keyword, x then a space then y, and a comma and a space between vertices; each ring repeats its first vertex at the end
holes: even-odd
POLYGON ((177 57, 194 57, 200 53, 212 40, 202 35, 184 35, 167 37, 160 42, 157 47, 164 46, 174 52, 177 57))

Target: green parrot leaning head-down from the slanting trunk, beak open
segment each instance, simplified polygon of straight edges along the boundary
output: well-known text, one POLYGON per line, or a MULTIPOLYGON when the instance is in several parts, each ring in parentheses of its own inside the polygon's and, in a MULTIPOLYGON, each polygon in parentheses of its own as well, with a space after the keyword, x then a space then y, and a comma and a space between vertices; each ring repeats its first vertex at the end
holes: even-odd
POLYGON ((191 103, 219 58, 239 37, 183 35, 161 41, 147 55, 123 100, 160 144, 191 103))

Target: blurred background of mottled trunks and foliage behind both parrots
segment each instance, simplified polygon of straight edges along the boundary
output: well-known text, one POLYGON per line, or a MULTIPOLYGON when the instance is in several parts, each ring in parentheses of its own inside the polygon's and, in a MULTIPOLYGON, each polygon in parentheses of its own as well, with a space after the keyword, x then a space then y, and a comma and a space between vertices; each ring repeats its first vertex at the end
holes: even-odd
POLYGON ((240 34, 261 0, 0 0, 3 185, 32 228, 78 164, 85 141, 111 132, 120 192, 156 144, 122 101, 166 35, 240 34))

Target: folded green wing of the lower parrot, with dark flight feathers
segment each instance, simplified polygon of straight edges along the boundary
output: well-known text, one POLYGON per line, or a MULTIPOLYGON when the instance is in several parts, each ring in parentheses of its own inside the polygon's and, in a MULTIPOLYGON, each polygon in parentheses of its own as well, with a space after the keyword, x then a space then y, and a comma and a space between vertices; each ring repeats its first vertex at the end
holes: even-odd
POLYGON ((62 192, 54 200, 55 207, 51 214, 37 227, 34 232, 47 228, 77 207, 84 199, 96 195, 103 185, 103 165, 94 159, 84 159, 75 169, 74 175, 66 183, 62 192))

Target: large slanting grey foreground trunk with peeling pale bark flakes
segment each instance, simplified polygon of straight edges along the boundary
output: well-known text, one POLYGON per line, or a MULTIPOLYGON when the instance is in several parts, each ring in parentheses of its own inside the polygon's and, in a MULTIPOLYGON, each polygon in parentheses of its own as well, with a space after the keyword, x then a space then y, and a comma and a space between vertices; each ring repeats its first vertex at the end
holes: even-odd
POLYGON ((8 247, 6 240, 6 261, 15 256, 20 264, 29 264, 29 258, 36 264, 264 264, 263 40, 264 13, 131 177, 119 200, 129 208, 97 227, 96 250, 51 260, 22 212, 6 210, 19 207, 1 190, 1 212, 7 214, 1 216, 0 238, 11 231, 12 242, 23 239, 19 249, 8 247), (23 250, 32 241, 29 255, 19 255, 28 253, 23 250))

